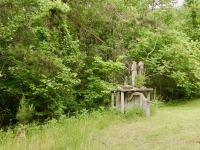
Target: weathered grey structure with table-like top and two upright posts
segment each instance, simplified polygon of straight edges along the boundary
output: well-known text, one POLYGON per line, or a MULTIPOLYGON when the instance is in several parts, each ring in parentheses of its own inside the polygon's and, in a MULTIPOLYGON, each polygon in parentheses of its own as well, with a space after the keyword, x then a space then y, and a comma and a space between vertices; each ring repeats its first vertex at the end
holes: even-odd
POLYGON ((114 97, 116 92, 116 108, 124 113, 125 108, 140 107, 147 116, 150 116, 150 91, 152 88, 136 87, 136 76, 144 75, 144 63, 132 61, 132 85, 128 85, 128 77, 125 77, 124 86, 111 90, 111 107, 114 107, 114 97), (146 97, 145 97, 146 95, 146 97))

